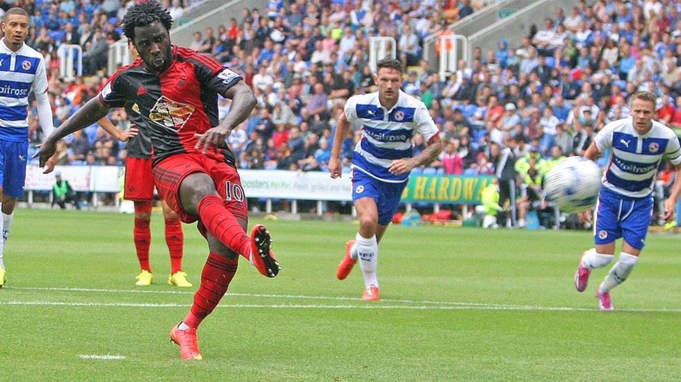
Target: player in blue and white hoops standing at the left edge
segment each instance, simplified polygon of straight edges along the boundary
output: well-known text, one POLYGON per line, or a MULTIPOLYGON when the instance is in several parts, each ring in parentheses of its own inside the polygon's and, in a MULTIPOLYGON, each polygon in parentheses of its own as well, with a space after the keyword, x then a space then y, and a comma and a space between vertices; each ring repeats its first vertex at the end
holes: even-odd
MULTIPOLYGON (((52 108, 47 96, 47 71, 40 53, 24 43, 28 13, 10 8, 2 17, 5 37, 0 40, 0 288, 5 284, 4 243, 10 234, 17 198, 24 196, 28 163, 28 93, 38 101, 38 121, 47 137, 53 130, 52 108)), ((47 160, 49 173, 56 159, 47 160)))

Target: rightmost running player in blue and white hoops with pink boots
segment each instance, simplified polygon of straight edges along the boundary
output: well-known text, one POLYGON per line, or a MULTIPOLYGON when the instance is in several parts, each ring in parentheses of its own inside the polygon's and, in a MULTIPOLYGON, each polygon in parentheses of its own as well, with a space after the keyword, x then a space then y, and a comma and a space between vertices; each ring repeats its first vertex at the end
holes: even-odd
POLYGON ((681 192, 681 146, 676 134, 653 121, 655 94, 638 92, 631 96, 631 117, 605 125, 584 157, 596 159, 611 150, 603 184, 593 216, 596 248, 582 254, 575 273, 575 287, 583 292, 593 268, 607 266, 614 259, 615 241, 624 238, 619 261, 598 286, 596 297, 601 310, 613 309, 610 290, 629 277, 639 261, 653 216, 653 186, 663 155, 676 166, 671 195, 664 202, 660 217, 671 220, 681 192))

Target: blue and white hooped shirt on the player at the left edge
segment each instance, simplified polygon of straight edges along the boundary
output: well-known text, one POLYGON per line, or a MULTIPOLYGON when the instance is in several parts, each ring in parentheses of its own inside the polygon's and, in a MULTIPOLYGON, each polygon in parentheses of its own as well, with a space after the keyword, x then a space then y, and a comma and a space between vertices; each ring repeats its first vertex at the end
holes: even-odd
POLYGON ((42 54, 24 44, 10 50, 0 40, 0 139, 28 139, 28 93, 47 92, 47 71, 42 54))

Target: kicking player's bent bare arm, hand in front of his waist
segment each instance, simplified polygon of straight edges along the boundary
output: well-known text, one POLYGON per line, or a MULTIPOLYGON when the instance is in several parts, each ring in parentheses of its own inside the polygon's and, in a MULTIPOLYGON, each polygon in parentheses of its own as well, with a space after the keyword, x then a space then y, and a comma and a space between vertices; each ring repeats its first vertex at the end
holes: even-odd
POLYGON ((215 151, 224 146, 224 139, 227 139, 229 132, 239 123, 245 121, 258 103, 253 90, 243 81, 239 81, 227 89, 222 96, 231 99, 227 116, 224 117, 220 125, 206 130, 204 134, 197 134, 199 140, 194 148, 203 147, 204 154, 208 152, 209 146, 213 146, 215 151))

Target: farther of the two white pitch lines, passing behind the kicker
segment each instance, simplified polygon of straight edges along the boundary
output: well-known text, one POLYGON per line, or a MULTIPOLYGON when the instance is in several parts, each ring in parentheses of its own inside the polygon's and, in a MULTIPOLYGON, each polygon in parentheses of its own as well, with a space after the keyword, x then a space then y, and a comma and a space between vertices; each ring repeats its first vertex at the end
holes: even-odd
MULTIPOLYGON (((136 290, 136 289, 99 289, 99 288, 44 288, 35 286, 16 287, 9 286, 6 289, 17 290, 51 290, 55 292, 93 292, 93 293, 150 293, 150 294, 172 294, 172 295, 194 295, 195 292, 188 290, 136 290)), ((309 295, 269 295, 263 293, 227 293, 226 296, 235 297, 264 297, 264 298, 285 298, 285 299, 331 299, 338 301, 356 301, 356 297, 338 296, 309 296, 309 295)), ((455 306, 506 306, 505 304, 481 304, 477 302, 450 302, 450 301, 418 301, 413 299, 381 299, 382 302, 397 302, 402 304, 441 304, 455 306)))

